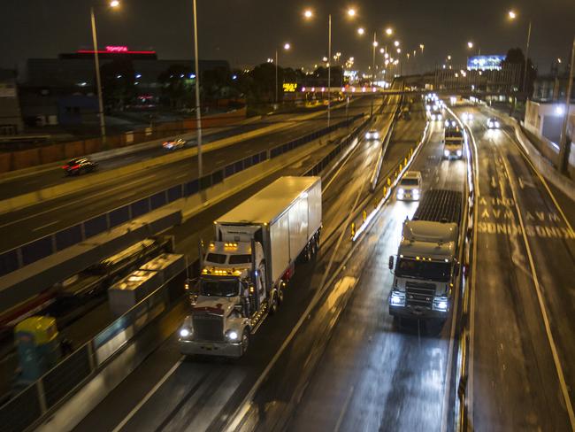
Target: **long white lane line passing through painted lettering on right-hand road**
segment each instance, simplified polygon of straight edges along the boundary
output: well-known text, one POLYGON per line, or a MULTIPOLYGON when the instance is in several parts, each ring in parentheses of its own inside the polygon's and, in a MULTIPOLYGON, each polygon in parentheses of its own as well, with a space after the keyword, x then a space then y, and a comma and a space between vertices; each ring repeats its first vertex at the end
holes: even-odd
POLYGON ((507 162, 505 161, 504 158, 502 158, 502 163, 505 171, 507 172, 507 176, 510 179, 511 195, 513 196, 513 200, 516 203, 517 217, 519 219, 519 225, 522 228, 521 234, 523 235, 523 241, 525 242, 525 251, 527 252, 527 258, 529 258, 529 267, 533 275, 533 284, 535 285, 537 300, 539 301, 540 311, 543 317, 543 323, 545 324, 545 331, 547 333, 549 346, 551 347, 551 353, 553 355, 553 362, 555 363, 557 377, 559 378, 559 385, 561 387, 561 392, 563 393, 565 408, 567 409, 567 413, 569 414, 571 429, 575 431, 575 413, 573 413, 573 405, 571 405, 571 397, 569 396, 569 390, 567 389, 567 383, 565 382, 565 377, 563 374, 563 366, 561 366, 561 361, 559 360, 559 354, 557 352, 555 339, 553 338, 553 334, 551 333, 551 326, 549 325, 547 310, 545 309, 545 304, 543 303, 543 295, 540 289, 539 278, 537 277, 537 273, 535 272, 535 264, 533 262, 531 247, 529 246, 529 241, 527 239, 527 235, 525 234, 525 225, 523 223, 523 216, 521 215, 521 211, 519 209, 519 206, 517 205, 517 196, 515 194, 515 188, 513 187, 513 182, 511 181, 510 178, 509 166, 507 166, 507 162))

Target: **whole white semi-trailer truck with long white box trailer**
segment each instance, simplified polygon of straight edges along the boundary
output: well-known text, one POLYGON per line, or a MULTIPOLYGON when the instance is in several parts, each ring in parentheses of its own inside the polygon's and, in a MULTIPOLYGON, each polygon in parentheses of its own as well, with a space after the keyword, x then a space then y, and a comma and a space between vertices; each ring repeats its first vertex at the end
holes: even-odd
POLYGON ((280 177, 214 228, 178 340, 185 355, 237 358, 265 317, 277 312, 298 258, 318 251, 321 178, 280 177))

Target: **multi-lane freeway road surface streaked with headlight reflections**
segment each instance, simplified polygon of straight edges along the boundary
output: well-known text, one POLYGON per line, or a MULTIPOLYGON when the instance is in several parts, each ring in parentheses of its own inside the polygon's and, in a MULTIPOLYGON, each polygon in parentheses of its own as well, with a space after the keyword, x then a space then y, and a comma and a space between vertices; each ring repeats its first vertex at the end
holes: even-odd
MULTIPOLYGON (((388 97, 375 128, 387 124, 398 100, 388 97)), ((350 106, 350 115, 364 110, 360 101, 350 106)), ((418 143, 426 119, 417 106, 411 120, 396 124, 381 178, 418 143)), ((318 257, 298 267, 279 315, 258 329, 249 352, 237 361, 186 359, 175 335, 168 336, 75 430, 454 430, 458 385, 471 430, 574 430, 572 203, 556 198, 525 157, 509 122, 502 119, 500 129, 487 128, 487 118, 501 114, 478 105, 454 111, 474 115, 466 128, 477 159, 464 382, 454 372, 460 361, 459 315, 441 324, 398 322, 387 312, 393 283, 387 259, 397 251, 403 220, 418 204, 392 197, 364 235, 351 240, 351 221, 372 199, 369 181, 381 148, 380 141, 360 139, 322 173, 324 238, 318 257)), ((314 127, 298 125, 211 151, 206 165, 208 170, 223 166, 314 127)), ((441 122, 431 122, 410 166, 422 173, 423 194, 466 191, 471 165, 467 158, 441 158, 442 134, 441 122)), ((302 158, 173 228, 177 251, 196 257, 198 240, 211 235, 211 220, 218 214, 279 175, 303 174, 321 154, 302 158)), ((152 178, 97 185, 86 197, 71 197, 99 193, 101 207, 75 211, 65 200, 54 200, 45 213, 36 216, 27 209, 14 223, 37 227, 40 218, 58 218, 47 228, 52 231, 134 194, 164 189, 178 175, 178 182, 193 178, 195 170, 195 158, 188 158, 158 168, 152 178)), ((382 187, 380 181, 373 193, 380 194, 382 187)), ((8 233, 10 225, 2 229, 8 233)), ((18 243, 24 237, 14 238, 18 243)), ((163 326, 160 333, 172 333, 184 312, 185 306, 175 308, 157 323, 163 326)))

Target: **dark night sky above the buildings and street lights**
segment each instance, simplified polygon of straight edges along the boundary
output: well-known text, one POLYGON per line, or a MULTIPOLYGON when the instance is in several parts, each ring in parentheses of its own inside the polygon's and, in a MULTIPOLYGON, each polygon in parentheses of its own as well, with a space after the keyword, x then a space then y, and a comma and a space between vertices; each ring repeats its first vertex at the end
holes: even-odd
MULTIPOLYGON (((282 66, 311 68, 327 51, 327 13, 333 19, 333 51, 353 56, 356 65, 371 63, 367 36, 394 27, 404 48, 425 44, 427 66, 448 54, 455 64, 476 53, 504 54, 510 47, 525 48, 528 17, 533 19, 531 57, 541 73, 552 61, 569 56, 575 34, 575 0, 357 0, 355 3, 315 0, 198 0, 200 58, 226 59, 232 66, 252 66, 273 57, 277 45, 290 42, 292 50, 280 58, 282 66), (357 17, 345 17, 347 6, 357 17), (310 6, 315 18, 304 21, 310 6), (518 19, 510 22, 513 8, 518 19), (364 27, 360 38, 357 27, 364 27), (474 52, 467 50, 472 40, 474 52)), ((61 52, 89 48, 89 6, 96 0, 3 0, 0 12, 0 67, 14 67, 26 58, 55 58, 61 52)), ((103 4, 103 3, 102 3, 103 4)), ((125 0, 119 11, 96 10, 99 45, 127 45, 134 50, 157 50, 159 58, 192 58, 191 0, 125 0)), ((421 60, 418 60, 421 61, 421 60)))

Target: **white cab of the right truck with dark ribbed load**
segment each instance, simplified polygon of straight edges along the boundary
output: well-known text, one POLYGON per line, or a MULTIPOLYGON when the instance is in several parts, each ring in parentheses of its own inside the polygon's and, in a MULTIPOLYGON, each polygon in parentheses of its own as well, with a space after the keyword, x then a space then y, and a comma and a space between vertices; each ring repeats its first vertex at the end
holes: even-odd
POLYGON ((389 257, 394 283, 389 313, 446 320, 459 271, 456 223, 406 220, 396 256, 389 257))

